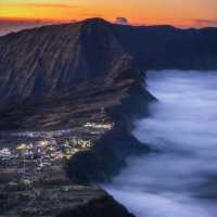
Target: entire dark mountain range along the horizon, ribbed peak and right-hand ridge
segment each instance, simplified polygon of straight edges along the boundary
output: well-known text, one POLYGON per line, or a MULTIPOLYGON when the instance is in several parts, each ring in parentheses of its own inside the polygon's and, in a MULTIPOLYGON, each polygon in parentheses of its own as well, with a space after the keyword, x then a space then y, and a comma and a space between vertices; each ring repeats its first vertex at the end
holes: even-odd
POLYGON ((123 68, 217 68, 217 28, 131 27, 100 18, 0 37, 0 99, 68 89, 123 68))

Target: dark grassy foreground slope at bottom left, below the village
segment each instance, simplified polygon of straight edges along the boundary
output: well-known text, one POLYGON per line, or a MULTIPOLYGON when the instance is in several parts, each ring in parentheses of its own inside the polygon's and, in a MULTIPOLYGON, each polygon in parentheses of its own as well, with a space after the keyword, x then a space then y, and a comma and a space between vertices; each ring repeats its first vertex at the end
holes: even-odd
POLYGON ((133 217, 99 188, 52 184, 0 191, 2 217, 133 217))

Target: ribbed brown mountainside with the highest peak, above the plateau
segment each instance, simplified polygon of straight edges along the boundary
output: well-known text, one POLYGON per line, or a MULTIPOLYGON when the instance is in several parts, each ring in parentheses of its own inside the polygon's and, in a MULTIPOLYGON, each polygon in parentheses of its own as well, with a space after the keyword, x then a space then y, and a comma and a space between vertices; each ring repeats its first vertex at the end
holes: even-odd
POLYGON ((51 93, 103 75, 123 55, 110 27, 97 20, 2 37, 1 100, 51 93))

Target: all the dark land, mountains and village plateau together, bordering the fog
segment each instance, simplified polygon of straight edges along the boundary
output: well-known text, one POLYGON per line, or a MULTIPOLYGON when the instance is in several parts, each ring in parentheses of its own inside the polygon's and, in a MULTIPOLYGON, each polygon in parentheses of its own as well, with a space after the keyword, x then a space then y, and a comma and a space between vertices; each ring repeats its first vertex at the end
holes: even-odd
POLYGON ((216 36, 92 18, 0 37, 0 145, 15 153, 0 162, 0 216, 131 217, 77 184, 108 180, 128 155, 150 151, 131 136, 155 100, 143 71, 216 69, 216 36), (23 158, 23 143, 46 149, 23 158))

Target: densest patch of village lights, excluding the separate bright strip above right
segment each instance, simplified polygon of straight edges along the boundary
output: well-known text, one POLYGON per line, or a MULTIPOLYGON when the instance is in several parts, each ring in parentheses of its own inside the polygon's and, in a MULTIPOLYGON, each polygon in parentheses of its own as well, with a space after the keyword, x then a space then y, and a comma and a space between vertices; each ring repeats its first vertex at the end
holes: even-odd
POLYGON ((91 145, 90 140, 75 138, 62 143, 58 143, 53 138, 30 143, 20 143, 13 149, 1 149, 0 162, 7 163, 13 159, 28 162, 36 159, 38 162, 37 169, 40 170, 59 159, 68 159, 77 152, 90 149, 91 145))

